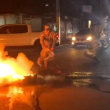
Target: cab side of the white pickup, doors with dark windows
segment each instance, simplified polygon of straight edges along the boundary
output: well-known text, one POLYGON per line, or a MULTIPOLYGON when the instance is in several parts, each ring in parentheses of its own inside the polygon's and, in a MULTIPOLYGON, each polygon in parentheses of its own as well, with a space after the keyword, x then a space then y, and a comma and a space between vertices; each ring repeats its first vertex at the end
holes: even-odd
POLYGON ((0 43, 5 46, 29 45, 27 25, 8 25, 0 27, 0 43))

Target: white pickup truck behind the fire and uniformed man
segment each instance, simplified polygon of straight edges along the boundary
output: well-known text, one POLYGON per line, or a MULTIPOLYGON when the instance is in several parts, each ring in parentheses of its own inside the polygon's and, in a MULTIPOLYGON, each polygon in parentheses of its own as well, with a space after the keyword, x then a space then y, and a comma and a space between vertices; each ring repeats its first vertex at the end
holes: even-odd
POLYGON ((31 25, 11 24, 0 26, 0 43, 5 46, 34 46, 41 48, 40 35, 41 32, 31 31, 31 25))

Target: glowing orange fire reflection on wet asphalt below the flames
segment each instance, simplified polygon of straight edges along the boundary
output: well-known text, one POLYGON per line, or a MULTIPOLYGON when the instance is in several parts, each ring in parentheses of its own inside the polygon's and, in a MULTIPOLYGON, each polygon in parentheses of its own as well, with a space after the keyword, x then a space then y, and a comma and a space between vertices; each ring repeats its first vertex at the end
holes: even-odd
MULTIPOLYGON (((0 88, 0 97, 7 97, 9 99, 9 110, 13 110, 15 104, 24 104, 25 106, 29 106, 30 110, 37 110, 37 108, 41 110, 39 107, 39 96, 41 93, 41 86, 37 88, 35 86, 0 88)), ((19 110, 22 109, 19 108, 19 110)))

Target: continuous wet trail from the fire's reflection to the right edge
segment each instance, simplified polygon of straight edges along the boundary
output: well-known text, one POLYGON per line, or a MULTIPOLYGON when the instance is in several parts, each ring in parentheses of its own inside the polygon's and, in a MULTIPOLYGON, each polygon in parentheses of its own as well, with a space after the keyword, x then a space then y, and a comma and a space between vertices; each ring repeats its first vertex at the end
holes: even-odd
MULTIPOLYGON (((80 87, 80 86, 87 86, 98 91, 107 91, 109 92, 108 88, 110 88, 110 80, 102 80, 97 78, 91 78, 92 73, 79 73, 76 72, 72 74, 73 79, 63 79, 59 77, 50 77, 46 76, 44 79, 47 84, 43 85, 35 85, 35 86, 10 86, 10 87, 1 87, 0 88, 0 99, 2 97, 7 97, 9 99, 9 109, 16 110, 14 107, 19 108, 19 104, 24 104, 28 106, 26 110, 41 110, 39 104, 39 97, 46 92, 52 92, 55 88, 65 88, 66 86, 73 85, 80 87), (80 77, 81 76, 81 77, 80 77), (83 77, 87 76, 87 77, 83 77), (75 77, 75 78, 74 78, 75 77), (77 77, 80 77, 79 79, 77 77), (52 81, 51 81, 52 80, 52 81), (90 86, 91 85, 91 86, 90 86)), ((18 110, 24 110, 23 108, 19 108, 18 110)))

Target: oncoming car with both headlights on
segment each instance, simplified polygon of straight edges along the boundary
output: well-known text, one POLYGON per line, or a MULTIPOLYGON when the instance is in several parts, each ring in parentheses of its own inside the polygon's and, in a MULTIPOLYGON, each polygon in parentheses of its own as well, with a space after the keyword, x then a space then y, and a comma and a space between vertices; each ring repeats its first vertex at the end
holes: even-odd
POLYGON ((77 45, 91 45, 93 36, 90 33, 90 29, 82 29, 75 36, 72 37, 71 44, 75 47, 77 45))

